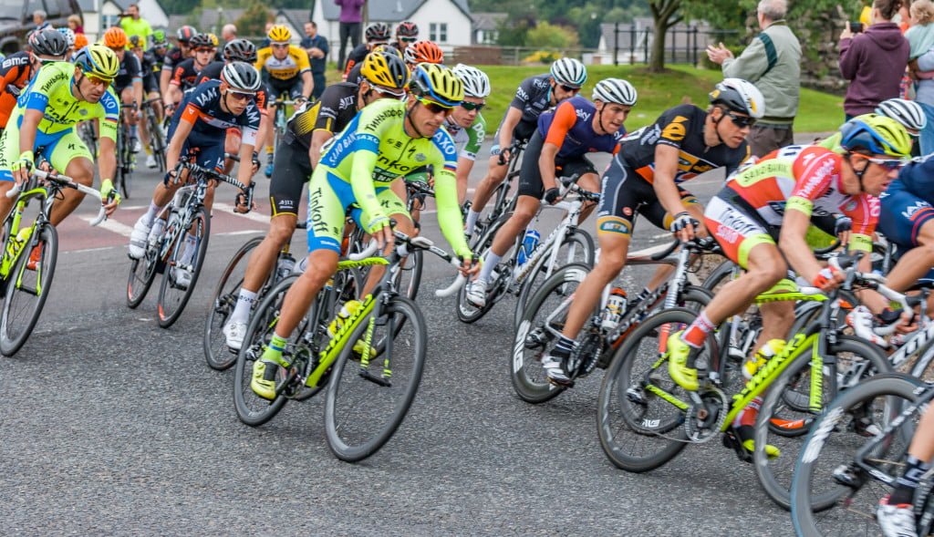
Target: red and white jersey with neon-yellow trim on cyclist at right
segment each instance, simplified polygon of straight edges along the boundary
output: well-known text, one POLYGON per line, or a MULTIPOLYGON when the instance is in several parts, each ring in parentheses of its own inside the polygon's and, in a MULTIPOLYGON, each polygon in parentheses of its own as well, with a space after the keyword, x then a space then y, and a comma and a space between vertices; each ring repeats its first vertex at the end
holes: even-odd
MULTIPOLYGON (((819 146, 776 149, 727 179, 726 188, 772 226, 781 226, 785 208, 807 215, 846 215, 853 233, 870 236, 879 219, 879 199, 842 191, 842 156, 819 146)), ((729 192, 728 191, 728 192, 729 192)), ((720 196, 729 201, 729 194, 720 196)))

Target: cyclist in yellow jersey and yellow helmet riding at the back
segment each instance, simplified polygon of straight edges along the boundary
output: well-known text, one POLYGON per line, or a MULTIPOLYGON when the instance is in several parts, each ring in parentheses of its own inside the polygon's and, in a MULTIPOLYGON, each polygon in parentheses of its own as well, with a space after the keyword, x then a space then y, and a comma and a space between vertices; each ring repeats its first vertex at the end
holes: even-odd
MULTIPOLYGON (((276 24, 269 29, 270 46, 257 52, 256 68, 262 73, 270 92, 269 110, 276 116, 276 100, 280 96, 295 101, 295 106, 308 100, 314 90, 308 53, 290 44, 289 28, 276 24)), ((266 142, 266 177, 273 177, 273 147, 266 142)))

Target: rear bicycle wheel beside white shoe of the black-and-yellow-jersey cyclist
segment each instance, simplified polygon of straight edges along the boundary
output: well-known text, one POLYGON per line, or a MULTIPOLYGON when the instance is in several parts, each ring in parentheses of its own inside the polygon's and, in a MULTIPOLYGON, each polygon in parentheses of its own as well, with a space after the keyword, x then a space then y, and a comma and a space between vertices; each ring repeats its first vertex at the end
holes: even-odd
MULTIPOLYGON (((231 261, 227 263, 227 268, 220 275, 218 286, 214 289, 211 308, 207 311, 204 337, 205 360, 211 369, 223 371, 236 361, 237 352, 227 346, 227 339, 222 330, 236 306, 253 248, 258 247, 260 243, 262 243, 262 236, 253 237, 247 241, 247 244, 240 247, 233 254, 231 261)), ((262 297, 257 298, 262 300, 262 297)))

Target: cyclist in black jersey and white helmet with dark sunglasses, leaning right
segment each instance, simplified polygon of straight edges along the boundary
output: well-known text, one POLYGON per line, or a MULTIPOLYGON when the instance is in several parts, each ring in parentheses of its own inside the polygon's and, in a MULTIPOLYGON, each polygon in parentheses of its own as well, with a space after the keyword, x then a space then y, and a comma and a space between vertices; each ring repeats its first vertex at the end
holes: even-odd
POLYGON ((736 169, 749 157, 745 137, 764 115, 764 106, 755 86, 727 78, 710 93, 707 110, 674 106, 625 138, 603 174, 597 213, 600 260, 576 290, 559 342, 542 361, 552 382, 569 383, 565 365, 574 339, 603 288, 625 266, 636 216, 672 231, 701 220, 697 198, 678 183, 719 167, 728 173, 736 169))

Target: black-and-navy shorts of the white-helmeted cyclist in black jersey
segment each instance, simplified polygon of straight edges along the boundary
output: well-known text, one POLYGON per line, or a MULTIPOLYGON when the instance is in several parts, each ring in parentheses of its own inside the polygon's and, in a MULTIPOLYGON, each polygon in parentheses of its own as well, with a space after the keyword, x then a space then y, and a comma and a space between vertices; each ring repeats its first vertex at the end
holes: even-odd
MULTIPOLYGON (((603 174, 600 208, 597 210, 597 233, 632 234, 636 216, 645 219, 660 229, 668 231, 672 215, 658 201, 655 188, 629 165, 614 158, 603 174)), ((675 185, 681 194, 681 204, 689 207, 700 202, 693 194, 675 185)))

